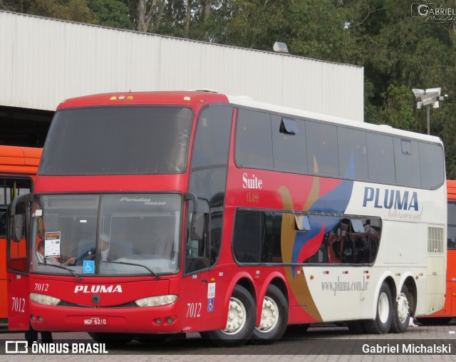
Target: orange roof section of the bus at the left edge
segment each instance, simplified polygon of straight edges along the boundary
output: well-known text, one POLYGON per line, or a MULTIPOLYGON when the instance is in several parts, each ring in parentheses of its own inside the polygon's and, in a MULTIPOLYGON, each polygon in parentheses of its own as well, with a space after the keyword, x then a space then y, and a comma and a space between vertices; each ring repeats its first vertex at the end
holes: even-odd
POLYGON ((36 174, 42 148, 0 145, 0 172, 36 174))

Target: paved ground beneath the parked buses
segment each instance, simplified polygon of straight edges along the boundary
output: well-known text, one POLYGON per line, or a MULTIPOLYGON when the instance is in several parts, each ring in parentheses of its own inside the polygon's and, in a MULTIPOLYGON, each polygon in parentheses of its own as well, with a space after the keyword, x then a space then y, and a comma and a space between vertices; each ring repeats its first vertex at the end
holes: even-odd
MULTIPOLYGON (((53 333, 56 343, 92 343, 87 333, 53 333)), ((216 348, 198 333, 162 343, 133 341, 125 346, 108 346, 109 355, 13 355, 4 354, 6 341, 23 341, 23 333, 0 329, 0 361, 163 361, 236 362, 241 361, 456 361, 456 325, 409 327, 406 333, 352 335, 343 326, 316 326, 306 333, 290 329, 281 341, 268 346, 247 344, 239 348, 216 348), (362 346, 385 348, 385 353, 363 353, 362 346), (443 346, 451 353, 399 354, 403 346, 443 346), (389 354, 388 354, 389 351, 389 354)), ((70 347, 71 348, 71 347, 70 347)))

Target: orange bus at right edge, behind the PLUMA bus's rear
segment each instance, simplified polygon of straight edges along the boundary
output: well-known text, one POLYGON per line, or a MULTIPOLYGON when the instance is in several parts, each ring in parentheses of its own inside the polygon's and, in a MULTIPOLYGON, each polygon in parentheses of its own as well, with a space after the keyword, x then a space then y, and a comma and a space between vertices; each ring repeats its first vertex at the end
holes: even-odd
POLYGON ((447 180, 448 232, 447 232, 447 292, 445 305, 430 316, 418 321, 425 326, 448 324, 456 317, 456 180, 447 180))

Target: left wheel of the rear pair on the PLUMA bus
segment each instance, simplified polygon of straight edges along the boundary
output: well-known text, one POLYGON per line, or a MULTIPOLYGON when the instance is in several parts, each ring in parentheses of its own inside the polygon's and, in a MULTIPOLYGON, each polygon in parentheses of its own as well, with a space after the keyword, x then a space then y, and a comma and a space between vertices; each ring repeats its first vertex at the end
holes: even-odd
POLYGON ((392 310, 393 300, 391 299, 390 287, 383 282, 382 286, 380 286, 380 293, 378 293, 375 319, 364 321, 366 331, 371 334, 388 333, 391 326, 391 319, 393 318, 392 310))

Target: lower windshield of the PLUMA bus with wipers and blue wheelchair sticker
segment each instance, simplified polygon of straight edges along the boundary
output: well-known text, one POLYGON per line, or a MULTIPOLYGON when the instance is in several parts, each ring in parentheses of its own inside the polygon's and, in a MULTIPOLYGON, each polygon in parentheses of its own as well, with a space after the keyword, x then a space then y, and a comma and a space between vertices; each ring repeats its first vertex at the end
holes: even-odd
POLYGON ((175 273, 181 203, 177 194, 38 195, 33 270, 69 274, 70 269, 81 276, 175 273))

